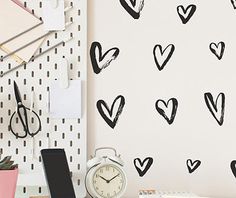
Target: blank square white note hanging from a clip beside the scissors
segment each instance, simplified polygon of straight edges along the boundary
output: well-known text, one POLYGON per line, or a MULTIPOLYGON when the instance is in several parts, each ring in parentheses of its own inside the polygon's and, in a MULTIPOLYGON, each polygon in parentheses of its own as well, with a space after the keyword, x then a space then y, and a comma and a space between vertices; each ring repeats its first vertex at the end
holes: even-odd
POLYGON ((50 87, 50 115, 52 118, 81 118, 81 81, 69 81, 63 89, 59 81, 50 87))

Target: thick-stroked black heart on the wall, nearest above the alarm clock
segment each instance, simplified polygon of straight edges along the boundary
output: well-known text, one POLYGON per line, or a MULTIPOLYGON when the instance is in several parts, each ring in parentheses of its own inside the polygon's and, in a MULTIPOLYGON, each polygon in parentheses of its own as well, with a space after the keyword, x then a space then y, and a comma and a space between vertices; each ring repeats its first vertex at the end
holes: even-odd
POLYGON ((122 113, 124 105, 125 105, 125 98, 124 96, 119 95, 116 97, 116 99, 112 103, 111 109, 109 109, 109 107, 107 106, 104 100, 99 100, 97 102, 97 109, 100 115, 102 116, 102 118, 106 121, 106 123, 111 128, 114 129, 117 124, 118 118, 120 114, 122 113), (114 112, 115 105, 117 106, 116 112, 114 112), (105 108, 106 112, 104 112, 103 107, 105 108))

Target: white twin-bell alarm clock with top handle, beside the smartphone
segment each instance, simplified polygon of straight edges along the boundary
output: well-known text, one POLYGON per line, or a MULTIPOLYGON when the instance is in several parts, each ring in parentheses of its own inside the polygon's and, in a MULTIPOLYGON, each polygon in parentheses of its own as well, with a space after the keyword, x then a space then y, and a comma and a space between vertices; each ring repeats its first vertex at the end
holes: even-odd
POLYGON ((122 197, 127 186, 127 178, 123 169, 124 163, 116 150, 101 147, 95 150, 94 157, 87 162, 88 171, 85 186, 88 194, 96 198, 122 197), (96 156, 98 150, 113 150, 114 156, 96 156))

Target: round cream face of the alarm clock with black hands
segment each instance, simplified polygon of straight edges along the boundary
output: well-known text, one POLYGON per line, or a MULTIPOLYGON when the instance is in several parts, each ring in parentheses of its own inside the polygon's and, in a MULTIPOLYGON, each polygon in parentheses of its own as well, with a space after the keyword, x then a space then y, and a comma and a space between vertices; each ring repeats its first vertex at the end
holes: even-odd
POLYGON ((120 196, 126 186, 123 171, 115 165, 104 165, 93 175, 93 187, 98 195, 104 198, 120 196))

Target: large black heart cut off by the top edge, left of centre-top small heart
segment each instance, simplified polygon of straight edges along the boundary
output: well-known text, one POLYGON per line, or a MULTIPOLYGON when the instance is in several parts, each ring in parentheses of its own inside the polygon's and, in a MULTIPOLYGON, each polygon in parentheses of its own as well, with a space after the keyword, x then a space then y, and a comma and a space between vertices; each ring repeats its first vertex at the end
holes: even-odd
POLYGON ((124 9, 134 18, 139 19, 140 12, 144 7, 144 0, 120 0, 121 5, 124 9), (127 2, 130 2, 129 3, 127 2))

